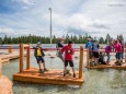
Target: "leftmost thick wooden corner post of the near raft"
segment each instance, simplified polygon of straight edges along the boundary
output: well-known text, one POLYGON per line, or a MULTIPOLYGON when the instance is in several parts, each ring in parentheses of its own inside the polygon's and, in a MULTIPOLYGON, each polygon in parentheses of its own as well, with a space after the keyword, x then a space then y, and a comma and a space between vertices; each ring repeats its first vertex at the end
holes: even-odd
POLYGON ((24 46, 20 44, 20 73, 23 72, 23 64, 24 64, 24 46))

